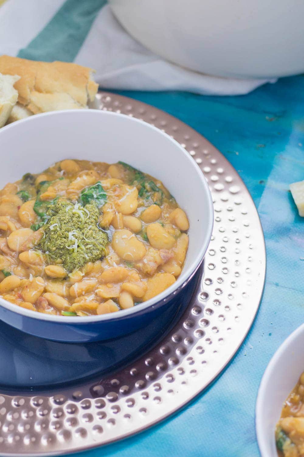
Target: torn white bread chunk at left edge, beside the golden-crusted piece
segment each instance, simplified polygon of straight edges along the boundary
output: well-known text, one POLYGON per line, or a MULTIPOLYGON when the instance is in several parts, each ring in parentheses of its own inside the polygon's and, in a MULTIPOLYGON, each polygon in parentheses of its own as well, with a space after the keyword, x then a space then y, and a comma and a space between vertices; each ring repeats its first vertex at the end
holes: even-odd
POLYGON ((3 127, 18 100, 18 92, 14 89, 20 76, 0 73, 0 127, 3 127))

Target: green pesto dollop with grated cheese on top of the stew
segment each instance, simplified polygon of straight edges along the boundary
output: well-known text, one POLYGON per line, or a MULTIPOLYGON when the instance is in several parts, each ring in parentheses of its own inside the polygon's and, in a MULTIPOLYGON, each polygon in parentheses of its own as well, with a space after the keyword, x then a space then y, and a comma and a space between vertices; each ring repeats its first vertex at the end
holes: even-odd
POLYGON ((37 247, 50 263, 61 260, 70 273, 105 255, 108 237, 98 228, 99 210, 93 203, 83 207, 61 200, 48 209, 46 218, 37 247))

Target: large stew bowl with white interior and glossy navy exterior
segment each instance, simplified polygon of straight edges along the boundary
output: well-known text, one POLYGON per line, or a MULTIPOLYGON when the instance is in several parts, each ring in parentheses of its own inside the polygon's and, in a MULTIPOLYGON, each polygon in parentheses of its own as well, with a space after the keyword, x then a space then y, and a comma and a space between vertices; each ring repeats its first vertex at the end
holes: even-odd
POLYGON ((191 279, 211 238, 213 205, 198 165, 169 135, 113 112, 50 112, 2 128, 0 154, 0 188, 62 159, 122 160, 163 181, 190 222, 184 269, 176 282, 156 297, 117 313, 77 318, 37 313, 0 298, 1 320, 51 340, 107 340, 144 327, 169 306, 174 310, 177 301, 189 299, 191 279))

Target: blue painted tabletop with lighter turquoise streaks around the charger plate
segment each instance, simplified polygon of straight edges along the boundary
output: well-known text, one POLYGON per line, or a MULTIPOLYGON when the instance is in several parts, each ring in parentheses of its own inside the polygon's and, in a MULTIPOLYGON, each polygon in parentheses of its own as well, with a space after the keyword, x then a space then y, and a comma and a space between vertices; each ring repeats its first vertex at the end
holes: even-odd
POLYGON ((304 321, 304 219, 288 192, 290 182, 304 179, 304 76, 240 97, 119 93, 188 123, 238 170, 261 217, 267 280, 247 339, 211 388, 162 424, 75 457, 259 456, 254 427, 258 385, 274 351, 304 321))

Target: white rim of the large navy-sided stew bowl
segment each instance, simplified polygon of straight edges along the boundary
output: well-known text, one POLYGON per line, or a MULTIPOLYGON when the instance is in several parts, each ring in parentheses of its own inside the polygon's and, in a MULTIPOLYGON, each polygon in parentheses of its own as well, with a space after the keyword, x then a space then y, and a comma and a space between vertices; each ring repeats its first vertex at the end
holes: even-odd
MULTIPOLYGON (((46 112, 46 113, 41 113, 41 114, 36 114, 35 116, 27 117, 26 119, 22 119, 21 121, 17 121, 16 123, 20 122, 35 122, 35 118, 37 117, 47 117, 47 116, 54 116, 57 113, 67 113, 67 112, 82 112, 83 110, 61 110, 61 111, 56 111, 56 112, 46 112)), ((90 110, 90 113, 96 112, 99 113, 98 110, 90 110)), ((121 113, 115 113, 115 112, 107 112, 109 116, 116 116, 116 117, 128 117, 125 114, 121 113)), ((133 308, 128 308, 128 309, 123 309, 120 310, 119 313, 108 313, 108 314, 100 314, 97 316, 86 316, 86 317, 68 317, 68 316, 54 316, 54 315, 47 315, 43 313, 37 313, 36 311, 31 311, 26 308, 21 308, 20 306, 17 306, 13 303, 7 302, 3 298, 0 298, 0 306, 3 308, 6 308, 16 314, 22 314, 23 316, 32 318, 32 319, 37 319, 37 320, 46 320, 49 322, 56 322, 57 324, 85 324, 89 322, 99 322, 99 321, 106 321, 106 320, 115 320, 115 319, 120 319, 124 316, 131 315, 138 313, 140 311, 143 311, 144 309, 149 308, 150 306, 153 306, 155 303, 158 303, 165 298, 167 298, 169 295, 171 295, 173 292, 179 290, 184 283, 188 282, 188 279, 192 276, 192 274, 196 271, 197 267, 201 264, 202 259, 204 258, 204 255, 206 253, 207 247, 210 243, 211 239, 211 234, 212 234, 212 229, 213 229, 213 202, 212 202, 212 197, 211 197, 211 192, 209 189, 209 186, 207 184, 207 181, 201 172, 199 166, 196 164, 196 162, 192 159, 190 154, 178 143, 175 139, 171 138, 170 135, 168 135, 165 132, 162 132, 159 128, 144 122, 140 119, 137 119, 135 117, 132 118, 132 121, 138 122, 140 124, 144 124, 145 127, 149 126, 152 130, 155 130, 159 135, 163 135, 167 138, 170 139, 172 143, 175 143, 175 146, 180 150, 181 154, 184 154, 186 159, 191 163, 191 166, 193 166, 193 172, 198 175, 198 177, 201 180, 201 185, 205 190, 206 198, 207 198, 207 207, 208 207, 208 213, 210 217, 210 226, 208 228, 208 232, 206 234, 204 243, 200 246, 200 248, 197 251, 196 258, 193 261, 192 265, 187 269, 183 270, 180 274, 180 276, 177 278, 176 282, 172 284, 172 286, 168 287, 164 292, 161 292, 159 295, 156 295, 156 297, 151 298, 147 300, 146 302, 140 303, 133 308)), ((4 129, 9 129, 9 128, 14 128, 16 123, 11 123, 5 127, 3 127, 1 130, 4 129)))

